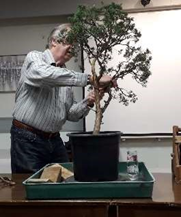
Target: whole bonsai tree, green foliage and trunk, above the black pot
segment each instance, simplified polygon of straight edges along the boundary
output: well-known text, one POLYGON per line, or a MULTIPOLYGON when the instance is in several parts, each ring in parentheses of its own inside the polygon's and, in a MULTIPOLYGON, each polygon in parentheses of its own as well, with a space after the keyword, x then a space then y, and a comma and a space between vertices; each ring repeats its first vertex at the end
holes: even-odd
MULTIPOLYGON (((72 29, 67 40, 74 44, 74 54, 83 49, 91 65, 93 89, 96 94, 96 119, 94 133, 100 131, 103 114, 112 99, 128 105, 135 102, 137 96, 133 91, 122 87, 109 86, 107 97, 100 103, 99 79, 111 75, 114 79, 124 79, 126 75, 145 86, 150 76, 150 51, 143 51, 137 45, 141 33, 135 28, 133 18, 122 10, 121 5, 111 3, 95 6, 79 6, 77 12, 70 18, 72 29), (111 61, 117 52, 117 64, 111 61)), ((119 83, 119 82, 118 82, 119 83)))

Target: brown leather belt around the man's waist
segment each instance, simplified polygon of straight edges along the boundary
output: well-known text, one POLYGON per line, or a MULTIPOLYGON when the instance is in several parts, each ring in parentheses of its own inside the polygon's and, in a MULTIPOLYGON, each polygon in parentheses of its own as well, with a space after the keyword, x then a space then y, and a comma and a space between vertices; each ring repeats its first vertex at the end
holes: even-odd
POLYGON ((15 120, 15 119, 13 120, 13 125, 20 128, 20 129, 26 129, 28 131, 31 131, 32 133, 35 133, 35 134, 40 135, 42 137, 45 137, 47 139, 51 139, 51 138, 53 138, 53 137, 55 137, 55 136, 57 136, 59 134, 59 132, 48 133, 48 132, 44 132, 42 130, 38 130, 38 129, 34 128, 34 127, 26 125, 26 124, 24 124, 24 123, 22 123, 20 121, 15 120))

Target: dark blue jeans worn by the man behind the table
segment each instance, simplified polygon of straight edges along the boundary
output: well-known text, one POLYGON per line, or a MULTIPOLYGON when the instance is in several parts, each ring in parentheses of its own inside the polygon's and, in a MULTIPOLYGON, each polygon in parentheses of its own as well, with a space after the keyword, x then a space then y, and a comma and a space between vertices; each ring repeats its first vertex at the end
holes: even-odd
POLYGON ((34 173, 49 163, 68 162, 60 135, 47 139, 26 129, 11 127, 12 173, 34 173))

